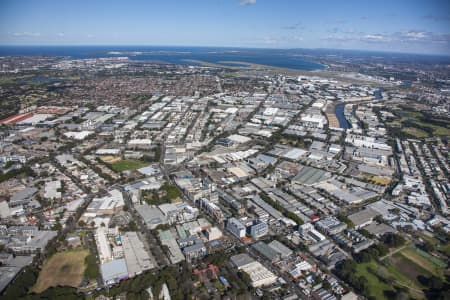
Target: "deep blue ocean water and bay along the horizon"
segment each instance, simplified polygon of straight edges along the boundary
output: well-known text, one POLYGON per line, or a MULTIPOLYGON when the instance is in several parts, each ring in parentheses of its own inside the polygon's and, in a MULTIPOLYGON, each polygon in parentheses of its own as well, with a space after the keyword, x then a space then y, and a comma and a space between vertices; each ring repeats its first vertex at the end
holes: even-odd
POLYGON ((321 70, 326 68, 326 66, 305 59, 295 52, 273 49, 169 46, 0 46, 0 56, 7 55, 44 55, 71 58, 127 56, 132 60, 171 64, 193 65, 195 63, 187 60, 199 60, 224 66, 245 66, 245 63, 254 63, 297 70, 321 70))

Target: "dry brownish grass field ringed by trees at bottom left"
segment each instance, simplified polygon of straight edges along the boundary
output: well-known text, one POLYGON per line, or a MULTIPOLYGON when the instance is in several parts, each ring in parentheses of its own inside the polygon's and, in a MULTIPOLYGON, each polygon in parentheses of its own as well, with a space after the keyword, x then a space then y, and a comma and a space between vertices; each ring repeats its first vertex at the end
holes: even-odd
POLYGON ((47 260, 33 291, 40 293, 52 286, 77 287, 84 277, 84 260, 89 254, 87 249, 60 252, 47 260))

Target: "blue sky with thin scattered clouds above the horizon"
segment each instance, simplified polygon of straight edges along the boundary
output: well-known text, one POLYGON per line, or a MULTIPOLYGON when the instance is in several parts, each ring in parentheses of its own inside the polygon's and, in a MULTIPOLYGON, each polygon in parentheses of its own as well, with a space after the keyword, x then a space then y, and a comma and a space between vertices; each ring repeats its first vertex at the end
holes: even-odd
POLYGON ((0 0, 0 45, 331 48, 450 55, 450 1, 0 0))

